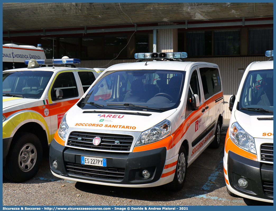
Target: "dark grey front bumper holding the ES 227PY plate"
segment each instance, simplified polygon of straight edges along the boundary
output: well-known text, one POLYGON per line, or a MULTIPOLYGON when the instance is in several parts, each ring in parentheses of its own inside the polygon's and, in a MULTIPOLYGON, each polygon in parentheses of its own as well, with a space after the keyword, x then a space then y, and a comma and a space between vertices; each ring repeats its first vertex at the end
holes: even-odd
POLYGON ((51 171, 60 178, 95 184, 139 186, 155 183, 160 179, 166 160, 166 147, 144 152, 111 154, 65 147, 53 139, 49 155, 51 171), (82 165, 82 155, 106 158, 107 167, 82 165), (54 160, 57 160, 57 169, 52 165, 54 160), (145 169, 150 172, 147 179, 141 174, 145 169))

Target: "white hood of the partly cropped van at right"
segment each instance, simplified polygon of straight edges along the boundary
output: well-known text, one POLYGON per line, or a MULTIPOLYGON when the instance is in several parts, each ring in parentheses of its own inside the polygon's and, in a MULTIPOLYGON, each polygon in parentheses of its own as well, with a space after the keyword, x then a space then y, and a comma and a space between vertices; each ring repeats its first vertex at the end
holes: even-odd
POLYGON ((273 115, 252 116, 235 110, 235 118, 239 125, 253 138, 273 139, 273 135, 265 135, 273 134, 273 115))

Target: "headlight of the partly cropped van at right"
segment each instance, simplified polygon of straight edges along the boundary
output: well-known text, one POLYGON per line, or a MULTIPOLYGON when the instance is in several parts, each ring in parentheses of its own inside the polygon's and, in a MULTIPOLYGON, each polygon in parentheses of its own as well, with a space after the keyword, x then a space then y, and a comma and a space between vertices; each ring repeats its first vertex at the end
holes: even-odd
POLYGON ((254 138, 246 133, 237 122, 231 125, 230 139, 239 147, 256 154, 254 138))

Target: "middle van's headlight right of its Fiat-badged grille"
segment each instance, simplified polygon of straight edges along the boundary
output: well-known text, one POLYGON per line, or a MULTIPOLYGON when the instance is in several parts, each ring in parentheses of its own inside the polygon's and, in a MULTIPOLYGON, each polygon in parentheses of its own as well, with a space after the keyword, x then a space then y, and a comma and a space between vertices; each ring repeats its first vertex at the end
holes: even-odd
POLYGON ((152 128, 142 132, 135 146, 149 144, 155 141, 159 141, 171 134, 171 122, 164 120, 152 128))

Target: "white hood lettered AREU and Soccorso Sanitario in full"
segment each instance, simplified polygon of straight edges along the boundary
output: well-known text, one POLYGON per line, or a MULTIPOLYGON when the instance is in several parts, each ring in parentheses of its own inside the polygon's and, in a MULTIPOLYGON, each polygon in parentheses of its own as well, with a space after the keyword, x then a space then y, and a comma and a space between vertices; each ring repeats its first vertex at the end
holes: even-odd
POLYGON ((177 109, 162 113, 135 110, 83 110, 74 105, 66 114, 69 127, 142 132, 162 122, 177 109))

